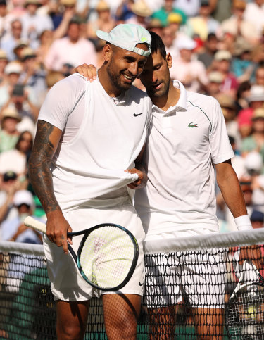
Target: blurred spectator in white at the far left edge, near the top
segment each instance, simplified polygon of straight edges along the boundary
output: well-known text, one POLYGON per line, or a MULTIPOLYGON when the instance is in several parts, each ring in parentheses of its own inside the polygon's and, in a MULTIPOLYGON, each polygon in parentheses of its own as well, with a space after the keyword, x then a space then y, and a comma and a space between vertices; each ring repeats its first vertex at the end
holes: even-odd
POLYGON ((14 49, 21 39, 21 33, 22 23, 19 19, 16 18, 11 22, 11 31, 6 32, 6 34, 4 34, 4 37, 2 37, 1 39, 0 42, 1 49, 6 51, 9 61, 13 61, 17 58, 17 56, 14 53, 14 49))

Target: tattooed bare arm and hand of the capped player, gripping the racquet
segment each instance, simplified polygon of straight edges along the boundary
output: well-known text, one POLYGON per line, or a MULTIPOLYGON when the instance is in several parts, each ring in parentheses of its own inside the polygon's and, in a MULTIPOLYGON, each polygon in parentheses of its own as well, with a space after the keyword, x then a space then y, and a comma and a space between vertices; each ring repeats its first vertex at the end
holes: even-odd
MULTIPOLYGON (((45 210, 47 222, 47 236, 57 246, 63 246, 63 251, 68 252, 67 232, 72 229, 63 217, 60 206, 54 195, 51 175, 51 160, 61 138, 61 130, 49 122, 39 120, 34 146, 29 160, 30 182, 34 192, 45 210)), ((68 239, 71 243, 71 239, 68 239)))

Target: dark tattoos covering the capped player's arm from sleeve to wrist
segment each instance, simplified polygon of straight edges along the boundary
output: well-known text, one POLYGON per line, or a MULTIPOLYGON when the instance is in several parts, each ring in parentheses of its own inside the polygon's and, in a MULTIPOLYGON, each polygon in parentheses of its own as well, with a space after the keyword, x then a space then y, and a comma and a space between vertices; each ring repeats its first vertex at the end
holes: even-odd
POLYGON ((53 125, 39 120, 29 160, 30 182, 46 213, 59 209, 50 171, 51 159, 55 151, 49 139, 53 130, 53 125))

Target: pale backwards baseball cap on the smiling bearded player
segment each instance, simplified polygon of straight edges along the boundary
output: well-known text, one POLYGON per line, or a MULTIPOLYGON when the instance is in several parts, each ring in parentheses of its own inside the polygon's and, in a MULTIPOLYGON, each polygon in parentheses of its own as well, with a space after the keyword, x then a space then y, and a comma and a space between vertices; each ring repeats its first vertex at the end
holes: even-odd
POLYGON ((109 33, 97 30, 96 35, 110 44, 140 56, 148 57, 151 53, 151 34, 144 27, 136 24, 120 24, 109 33), (137 44, 147 44, 148 51, 137 48, 137 44))

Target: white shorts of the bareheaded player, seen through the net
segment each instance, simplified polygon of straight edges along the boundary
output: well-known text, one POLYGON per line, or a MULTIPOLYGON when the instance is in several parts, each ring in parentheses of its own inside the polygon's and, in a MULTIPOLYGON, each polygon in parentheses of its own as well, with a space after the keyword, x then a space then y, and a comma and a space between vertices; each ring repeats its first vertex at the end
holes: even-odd
MULTIPOLYGON (((171 232, 163 233, 163 240, 164 234, 173 237, 171 232)), ((187 299, 193 308, 224 308, 224 256, 223 249, 145 256, 144 303, 149 308, 157 308, 187 299)))

